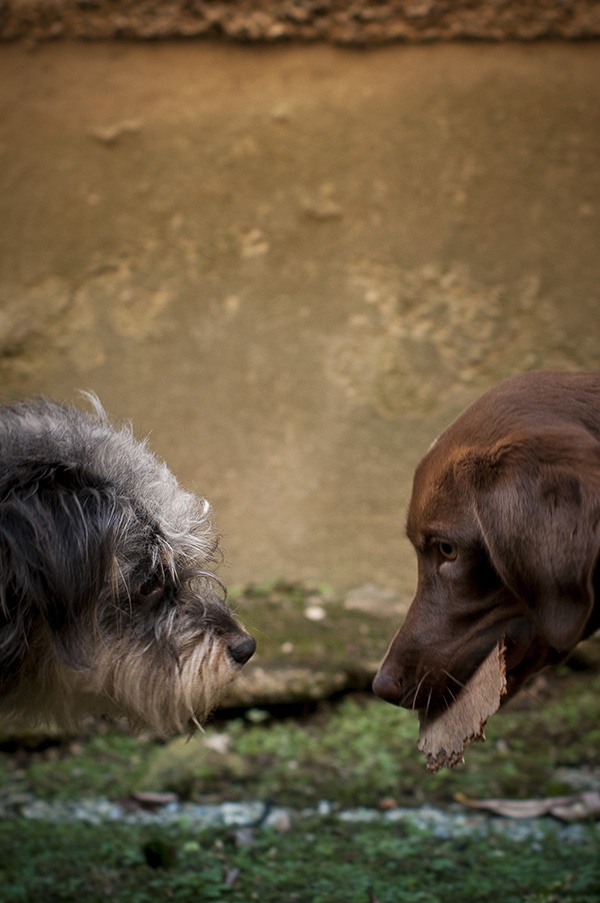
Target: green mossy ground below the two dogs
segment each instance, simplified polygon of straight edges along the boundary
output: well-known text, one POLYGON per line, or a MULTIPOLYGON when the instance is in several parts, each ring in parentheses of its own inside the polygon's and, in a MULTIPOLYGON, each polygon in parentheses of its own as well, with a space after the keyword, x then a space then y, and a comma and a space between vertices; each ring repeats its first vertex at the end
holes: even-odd
POLYGON ((50 824, 19 815, 29 797, 172 791, 181 800, 262 800, 296 809, 445 807, 471 798, 568 792, 569 773, 600 766, 600 671, 563 666, 489 722, 466 763, 429 775, 415 716, 368 694, 275 715, 219 716, 189 742, 157 741, 95 725, 77 738, 11 740, 0 753, 0 901, 116 900, 145 903, 463 903, 464 900, 600 899, 600 841, 584 826, 576 845, 556 836, 511 840, 434 838, 405 824, 331 818, 290 830, 211 831, 50 824), (571 771, 569 771, 571 770, 571 771))

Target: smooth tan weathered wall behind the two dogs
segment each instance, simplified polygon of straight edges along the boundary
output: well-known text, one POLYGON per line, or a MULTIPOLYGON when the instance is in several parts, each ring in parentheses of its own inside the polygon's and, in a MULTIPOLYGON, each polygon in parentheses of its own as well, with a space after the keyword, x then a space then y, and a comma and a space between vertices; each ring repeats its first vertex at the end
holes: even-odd
POLYGON ((497 380, 596 368, 600 47, 0 48, 0 391, 116 419, 230 583, 410 593, 413 468, 497 380))

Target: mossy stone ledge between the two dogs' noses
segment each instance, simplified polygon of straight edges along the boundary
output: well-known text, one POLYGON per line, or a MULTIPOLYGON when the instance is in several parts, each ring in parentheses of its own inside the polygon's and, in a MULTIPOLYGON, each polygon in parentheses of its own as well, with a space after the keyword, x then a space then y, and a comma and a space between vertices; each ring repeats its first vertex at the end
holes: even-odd
POLYGON ((296 705, 368 690, 409 602, 372 584, 342 595, 283 581, 244 590, 236 610, 258 649, 221 708, 296 705))

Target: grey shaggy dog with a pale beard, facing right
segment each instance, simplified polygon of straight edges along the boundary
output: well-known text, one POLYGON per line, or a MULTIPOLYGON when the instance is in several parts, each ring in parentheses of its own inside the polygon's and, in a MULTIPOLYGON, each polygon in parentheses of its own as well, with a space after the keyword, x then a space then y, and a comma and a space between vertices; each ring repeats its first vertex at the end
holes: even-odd
POLYGON ((255 642, 212 572, 208 502, 89 398, 0 406, 0 713, 189 732, 255 642))

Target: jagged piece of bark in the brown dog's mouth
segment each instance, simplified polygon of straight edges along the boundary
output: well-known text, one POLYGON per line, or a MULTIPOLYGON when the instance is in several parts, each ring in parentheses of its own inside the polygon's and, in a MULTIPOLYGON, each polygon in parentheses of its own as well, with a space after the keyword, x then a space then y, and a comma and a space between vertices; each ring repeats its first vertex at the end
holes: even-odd
POLYGON ((506 693, 504 651, 502 643, 494 646, 449 708, 432 716, 419 714, 419 749, 425 753, 428 771, 464 762, 469 743, 485 740, 485 723, 506 693))

